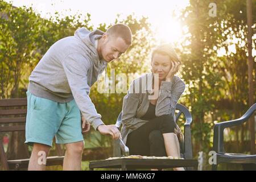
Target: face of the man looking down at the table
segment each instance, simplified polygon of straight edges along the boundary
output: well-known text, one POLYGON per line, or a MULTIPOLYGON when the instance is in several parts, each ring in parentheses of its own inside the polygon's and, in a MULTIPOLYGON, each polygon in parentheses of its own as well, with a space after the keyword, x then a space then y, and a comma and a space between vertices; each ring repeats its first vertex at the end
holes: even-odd
POLYGON ((125 43, 125 40, 120 37, 115 38, 105 34, 102 36, 102 39, 101 56, 108 63, 114 59, 118 59, 129 47, 125 43))

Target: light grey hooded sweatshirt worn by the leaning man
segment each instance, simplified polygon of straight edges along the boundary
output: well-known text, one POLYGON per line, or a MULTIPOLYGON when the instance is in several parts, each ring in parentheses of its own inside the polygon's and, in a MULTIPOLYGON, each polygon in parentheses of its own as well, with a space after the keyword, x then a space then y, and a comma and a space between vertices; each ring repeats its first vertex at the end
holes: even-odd
POLYGON ((95 46, 104 32, 79 28, 75 36, 54 43, 29 77, 28 90, 35 96, 65 103, 75 98, 81 114, 96 130, 101 121, 89 97, 90 86, 106 68, 95 46))

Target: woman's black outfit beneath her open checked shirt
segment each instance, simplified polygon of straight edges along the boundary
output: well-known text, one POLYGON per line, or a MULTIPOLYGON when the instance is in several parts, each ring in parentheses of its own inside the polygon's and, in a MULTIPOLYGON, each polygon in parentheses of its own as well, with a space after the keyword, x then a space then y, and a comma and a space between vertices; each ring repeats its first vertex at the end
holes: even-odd
POLYGON ((150 103, 147 112, 141 117, 148 122, 127 136, 126 145, 130 155, 166 156, 162 134, 173 133, 175 124, 171 115, 156 117, 155 109, 156 106, 150 103))

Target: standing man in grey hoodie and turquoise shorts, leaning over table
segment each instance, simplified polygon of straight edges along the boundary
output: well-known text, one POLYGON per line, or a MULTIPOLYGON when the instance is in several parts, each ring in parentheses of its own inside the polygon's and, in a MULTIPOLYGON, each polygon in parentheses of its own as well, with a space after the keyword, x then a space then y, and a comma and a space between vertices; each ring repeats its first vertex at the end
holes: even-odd
POLYGON ((64 170, 80 170, 82 133, 90 125, 113 139, 121 137, 115 125, 104 125, 89 98, 90 87, 131 45, 131 30, 115 24, 106 32, 79 28, 74 36, 53 44, 29 77, 26 142, 33 146, 28 170, 43 170, 52 139, 65 144, 64 170), (82 124, 81 124, 82 119, 82 124), (40 161, 39 161, 40 160, 40 161))

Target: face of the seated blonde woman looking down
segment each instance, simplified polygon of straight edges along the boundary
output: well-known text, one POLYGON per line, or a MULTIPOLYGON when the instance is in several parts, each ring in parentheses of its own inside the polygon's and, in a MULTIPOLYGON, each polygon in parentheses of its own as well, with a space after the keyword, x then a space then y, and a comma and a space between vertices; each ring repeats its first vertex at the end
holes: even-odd
POLYGON ((167 55, 155 53, 152 57, 152 72, 158 73, 159 80, 164 80, 171 69, 171 60, 167 55))

